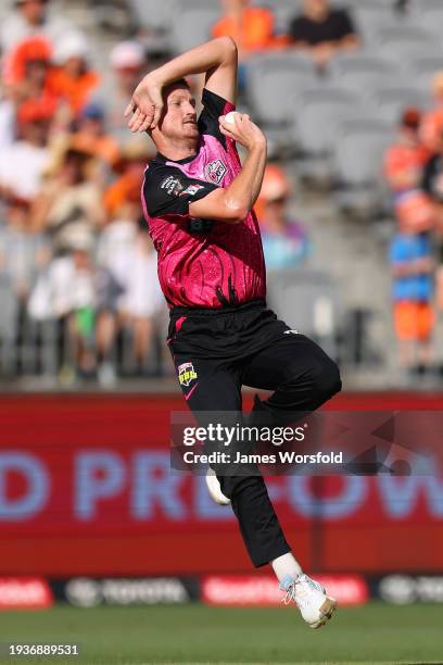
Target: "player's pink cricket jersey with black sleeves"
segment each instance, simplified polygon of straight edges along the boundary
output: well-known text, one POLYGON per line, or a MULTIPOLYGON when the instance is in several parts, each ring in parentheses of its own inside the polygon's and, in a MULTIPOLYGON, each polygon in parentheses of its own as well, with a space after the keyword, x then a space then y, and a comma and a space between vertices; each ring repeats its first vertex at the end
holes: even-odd
POLYGON ((219 131, 218 116, 233 105, 203 91, 195 156, 157 153, 144 173, 142 204, 157 251, 159 279, 169 308, 223 308, 265 298, 266 273, 254 212, 228 224, 197 219, 189 204, 228 187, 241 170, 236 143, 219 131))

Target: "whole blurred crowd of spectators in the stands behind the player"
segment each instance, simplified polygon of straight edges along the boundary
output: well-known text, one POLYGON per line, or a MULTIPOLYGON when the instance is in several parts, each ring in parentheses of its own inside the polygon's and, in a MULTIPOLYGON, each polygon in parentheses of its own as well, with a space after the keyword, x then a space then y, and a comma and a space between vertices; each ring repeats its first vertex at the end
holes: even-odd
MULTIPOLYGON (((23 341, 30 326, 38 346, 39 326, 51 321, 60 379, 98 377, 112 386, 125 372, 169 367, 153 353, 165 305, 140 208, 153 146, 134 138, 124 117, 134 88, 154 65, 136 35, 116 39, 107 72, 99 71, 88 37, 55 9, 54 0, 16 0, 0 26, 0 300, 12 302, 12 294, 15 322, 0 326, 0 337, 23 341)), ((362 46, 352 14, 329 0, 303 0, 284 29, 266 2, 220 0, 211 34, 236 39, 241 89, 255 53, 299 50, 321 74, 336 54, 362 46)), ((443 100, 441 78, 435 89, 443 100)), ((385 158, 398 221, 391 260, 405 365, 414 362, 417 342, 419 362, 430 362, 432 256, 443 225, 442 108, 422 118, 405 112, 385 158)), ((300 265, 312 252, 303 224, 288 212, 291 196, 284 170, 270 164, 256 209, 270 273, 300 265)), ((1 355, 0 364, 1 375, 1 355)), ((25 364, 16 355, 10 373, 24 373, 25 364)))

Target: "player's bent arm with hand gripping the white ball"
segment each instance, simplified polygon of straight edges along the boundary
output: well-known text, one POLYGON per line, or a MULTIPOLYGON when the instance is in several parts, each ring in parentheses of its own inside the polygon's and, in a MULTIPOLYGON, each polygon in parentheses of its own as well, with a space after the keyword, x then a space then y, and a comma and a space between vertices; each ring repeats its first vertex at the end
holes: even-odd
POLYGON ((189 205, 193 217, 219 219, 230 224, 243 222, 262 189, 266 166, 266 138, 248 115, 238 114, 235 124, 220 118, 220 131, 248 149, 241 172, 229 187, 219 188, 189 205), (242 118, 242 120, 241 120, 242 118))

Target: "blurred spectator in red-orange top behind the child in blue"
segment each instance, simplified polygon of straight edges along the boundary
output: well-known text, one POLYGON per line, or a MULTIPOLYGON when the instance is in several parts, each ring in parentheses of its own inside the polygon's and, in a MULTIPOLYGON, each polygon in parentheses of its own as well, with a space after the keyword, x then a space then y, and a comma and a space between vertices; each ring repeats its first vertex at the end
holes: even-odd
POLYGON ((419 136, 421 114, 418 109, 405 109, 398 125, 396 141, 384 155, 384 176, 395 193, 417 189, 429 159, 429 151, 419 136))

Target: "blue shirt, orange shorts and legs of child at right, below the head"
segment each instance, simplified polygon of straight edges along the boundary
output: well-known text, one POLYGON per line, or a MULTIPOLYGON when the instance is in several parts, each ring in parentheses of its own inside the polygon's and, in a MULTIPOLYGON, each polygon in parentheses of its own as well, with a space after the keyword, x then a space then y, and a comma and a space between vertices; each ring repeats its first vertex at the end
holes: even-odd
POLYGON ((402 367, 420 371, 431 362, 433 260, 429 234, 406 229, 397 234, 390 249, 393 275, 394 325, 402 367))

